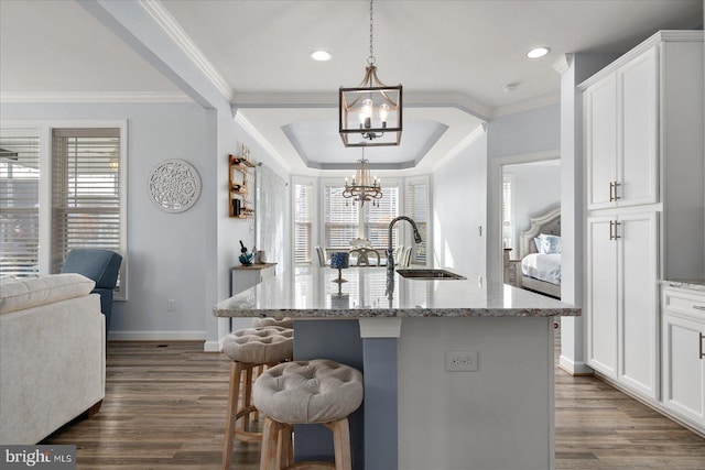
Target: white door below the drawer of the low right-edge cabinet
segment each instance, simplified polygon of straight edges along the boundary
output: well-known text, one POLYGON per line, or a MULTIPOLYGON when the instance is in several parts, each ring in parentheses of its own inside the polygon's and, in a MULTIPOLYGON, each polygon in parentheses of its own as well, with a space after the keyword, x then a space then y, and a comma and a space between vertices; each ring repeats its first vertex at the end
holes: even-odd
POLYGON ((663 405, 705 425, 705 320, 663 315, 663 405))

